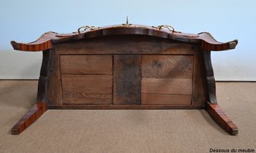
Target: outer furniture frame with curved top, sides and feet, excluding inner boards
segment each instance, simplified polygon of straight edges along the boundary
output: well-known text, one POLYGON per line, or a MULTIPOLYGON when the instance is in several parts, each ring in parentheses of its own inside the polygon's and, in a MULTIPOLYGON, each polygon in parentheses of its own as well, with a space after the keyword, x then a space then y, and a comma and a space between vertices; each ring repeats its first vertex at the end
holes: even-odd
POLYGON ((37 41, 31 43, 18 43, 11 42, 12 47, 15 50, 37 52, 42 51, 42 67, 38 82, 37 103, 29 110, 29 112, 12 127, 12 134, 17 135, 26 127, 29 127, 32 122, 39 118, 47 109, 206 109, 208 114, 230 135, 238 134, 238 127, 227 117, 227 115, 220 109, 217 104, 216 87, 214 79, 214 71, 211 66, 211 51, 230 50, 236 47, 238 40, 231 42, 217 42, 211 34, 203 32, 200 34, 184 34, 177 31, 169 31, 165 28, 157 28, 151 26, 140 25, 116 25, 107 26, 103 28, 94 28, 89 31, 82 31, 80 33, 75 32, 72 34, 57 34, 55 32, 48 32, 43 34, 37 41), (50 71, 54 66, 54 60, 51 59, 55 54, 54 45, 63 42, 77 41, 81 39, 90 39, 99 36, 110 35, 144 35, 155 36, 163 39, 172 39, 179 42, 189 42, 196 45, 200 45, 200 50, 203 51, 203 60, 206 71, 207 82, 207 99, 205 106, 50 106, 48 105, 48 94, 54 94, 56 91, 49 91, 48 85, 51 81, 50 71), (51 93, 53 92, 53 93, 51 93))

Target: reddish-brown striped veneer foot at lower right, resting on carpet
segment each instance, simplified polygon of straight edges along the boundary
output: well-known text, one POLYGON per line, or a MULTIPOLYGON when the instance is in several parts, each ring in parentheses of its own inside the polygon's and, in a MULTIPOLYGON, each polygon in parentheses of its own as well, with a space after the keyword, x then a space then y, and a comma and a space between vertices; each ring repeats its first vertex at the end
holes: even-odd
POLYGON ((206 111, 227 133, 233 136, 238 134, 238 127, 227 117, 217 103, 206 103, 206 111))

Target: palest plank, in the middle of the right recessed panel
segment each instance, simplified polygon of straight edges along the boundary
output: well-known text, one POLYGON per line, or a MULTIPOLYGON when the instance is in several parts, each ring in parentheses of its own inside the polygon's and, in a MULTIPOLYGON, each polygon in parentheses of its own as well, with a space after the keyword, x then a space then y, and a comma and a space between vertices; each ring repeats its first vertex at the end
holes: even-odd
POLYGON ((141 93, 192 95, 192 79, 142 78, 141 93))

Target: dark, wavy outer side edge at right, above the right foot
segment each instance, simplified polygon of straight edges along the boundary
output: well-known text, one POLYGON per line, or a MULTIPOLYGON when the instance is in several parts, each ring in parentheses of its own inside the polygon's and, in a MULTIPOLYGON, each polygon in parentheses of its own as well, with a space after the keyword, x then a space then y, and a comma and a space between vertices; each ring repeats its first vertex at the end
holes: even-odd
POLYGON ((203 61, 206 69, 208 101, 211 103, 217 103, 214 68, 211 65, 211 51, 203 52, 203 61))

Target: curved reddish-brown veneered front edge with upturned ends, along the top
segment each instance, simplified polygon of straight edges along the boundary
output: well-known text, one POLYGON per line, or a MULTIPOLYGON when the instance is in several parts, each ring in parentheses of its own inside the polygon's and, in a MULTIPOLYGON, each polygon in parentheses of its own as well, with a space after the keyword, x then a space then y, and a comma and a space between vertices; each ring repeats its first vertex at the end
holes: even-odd
POLYGON ((40 51, 53 49, 53 42, 68 42, 72 40, 95 38, 99 36, 110 36, 110 35, 146 35, 146 36, 157 36, 165 39, 173 39, 181 42, 192 42, 200 44, 203 50, 229 50, 236 47, 238 40, 231 42, 221 43, 217 42, 211 34, 200 33, 200 34, 184 34, 176 31, 169 31, 166 29, 153 28, 150 26, 108 26, 103 28, 96 28, 91 31, 84 31, 81 34, 56 34, 54 32, 48 32, 43 34, 37 41, 23 44, 12 41, 12 47, 15 50, 24 51, 40 51))

